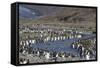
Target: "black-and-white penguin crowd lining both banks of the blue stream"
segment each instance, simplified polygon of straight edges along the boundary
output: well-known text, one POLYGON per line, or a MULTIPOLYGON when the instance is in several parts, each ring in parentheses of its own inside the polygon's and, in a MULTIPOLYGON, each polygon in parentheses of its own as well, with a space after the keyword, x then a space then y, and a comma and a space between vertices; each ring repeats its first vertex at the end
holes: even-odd
MULTIPOLYGON (((29 27, 27 28, 28 29, 26 29, 26 32, 30 32, 33 34, 37 33, 39 34, 39 36, 37 38, 21 40, 19 42, 19 52, 23 55, 32 54, 33 58, 34 56, 39 57, 40 59, 44 57, 45 60, 51 60, 54 62, 57 62, 59 58, 66 59, 66 58, 80 57, 80 58, 85 58, 86 60, 90 60, 90 58, 92 58, 93 55, 95 57, 95 54, 96 54, 95 46, 90 49, 86 49, 83 46, 83 44, 81 44, 80 42, 74 42, 71 45, 72 49, 76 49, 78 51, 78 56, 72 53, 66 53, 66 52, 55 52, 55 51, 43 50, 39 48, 34 49, 33 46, 38 43, 39 44, 47 43, 49 41, 53 43, 59 40, 64 41, 65 39, 82 38, 82 35, 74 34, 73 31, 70 31, 70 33, 67 33, 66 29, 64 29, 64 31, 61 31, 61 30, 53 31, 53 29, 42 30, 38 28, 33 28, 33 29, 30 29, 29 27)), ((93 42, 95 43, 96 40, 93 42)), ((30 59, 20 58, 19 61, 20 61, 20 64, 27 64, 29 63, 29 60, 30 59)))

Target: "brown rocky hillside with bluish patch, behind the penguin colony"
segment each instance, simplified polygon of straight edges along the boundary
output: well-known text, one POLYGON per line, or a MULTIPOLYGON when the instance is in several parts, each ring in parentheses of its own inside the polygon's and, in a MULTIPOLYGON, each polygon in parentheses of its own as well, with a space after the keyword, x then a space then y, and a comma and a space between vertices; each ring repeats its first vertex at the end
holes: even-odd
POLYGON ((95 8, 39 5, 20 5, 19 8, 21 23, 67 23, 68 26, 82 24, 82 26, 90 25, 90 27, 96 25, 95 8))

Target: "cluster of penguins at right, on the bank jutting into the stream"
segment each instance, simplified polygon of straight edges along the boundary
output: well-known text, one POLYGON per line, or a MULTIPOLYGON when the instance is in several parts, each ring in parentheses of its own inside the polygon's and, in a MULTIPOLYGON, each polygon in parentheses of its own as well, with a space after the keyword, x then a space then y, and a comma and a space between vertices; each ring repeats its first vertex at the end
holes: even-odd
MULTIPOLYGON (((89 39, 90 40, 90 39, 89 39)), ((82 40, 83 41, 83 40, 82 40)), ((87 40, 84 40, 84 41, 87 41, 87 40)), ((94 41, 94 40, 90 40, 90 41, 94 41)), ((96 44, 90 44, 90 47, 89 48, 86 48, 83 44, 81 44, 80 42, 74 42, 72 45, 71 45, 71 48, 72 49, 76 49, 79 53, 79 57, 80 58, 84 58, 86 60, 90 60, 92 58, 95 58, 96 57, 96 44)))

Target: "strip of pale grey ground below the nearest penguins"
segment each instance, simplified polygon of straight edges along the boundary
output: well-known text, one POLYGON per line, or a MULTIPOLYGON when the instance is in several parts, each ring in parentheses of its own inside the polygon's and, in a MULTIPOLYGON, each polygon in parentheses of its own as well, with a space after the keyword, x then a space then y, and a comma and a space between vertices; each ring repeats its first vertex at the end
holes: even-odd
MULTIPOLYGON (((58 57, 56 59, 50 58, 50 59, 46 59, 43 56, 36 56, 33 54, 21 54, 19 53, 19 58, 25 58, 25 59, 29 59, 29 63, 47 63, 47 62, 63 62, 63 61, 79 61, 79 60, 86 60, 85 58, 80 58, 80 57, 65 57, 65 58, 61 58, 58 57)), ((92 58, 91 60, 93 60, 95 58, 92 58)))

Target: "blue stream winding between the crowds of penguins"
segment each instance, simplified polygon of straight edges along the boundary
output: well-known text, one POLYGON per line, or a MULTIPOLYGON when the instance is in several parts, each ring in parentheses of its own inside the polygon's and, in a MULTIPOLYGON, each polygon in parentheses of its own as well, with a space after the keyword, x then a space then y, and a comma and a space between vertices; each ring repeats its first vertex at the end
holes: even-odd
POLYGON ((76 49, 71 48, 71 44, 73 42, 76 42, 81 39, 93 39, 96 38, 96 35, 94 34, 84 34, 82 38, 73 38, 73 39, 65 39, 65 40, 57 40, 57 41, 48 41, 46 43, 37 43, 33 44, 33 49, 44 49, 48 50, 50 52, 66 52, 66 53, 72 53, 74 55, 78 54, 78 51, 76 49))

